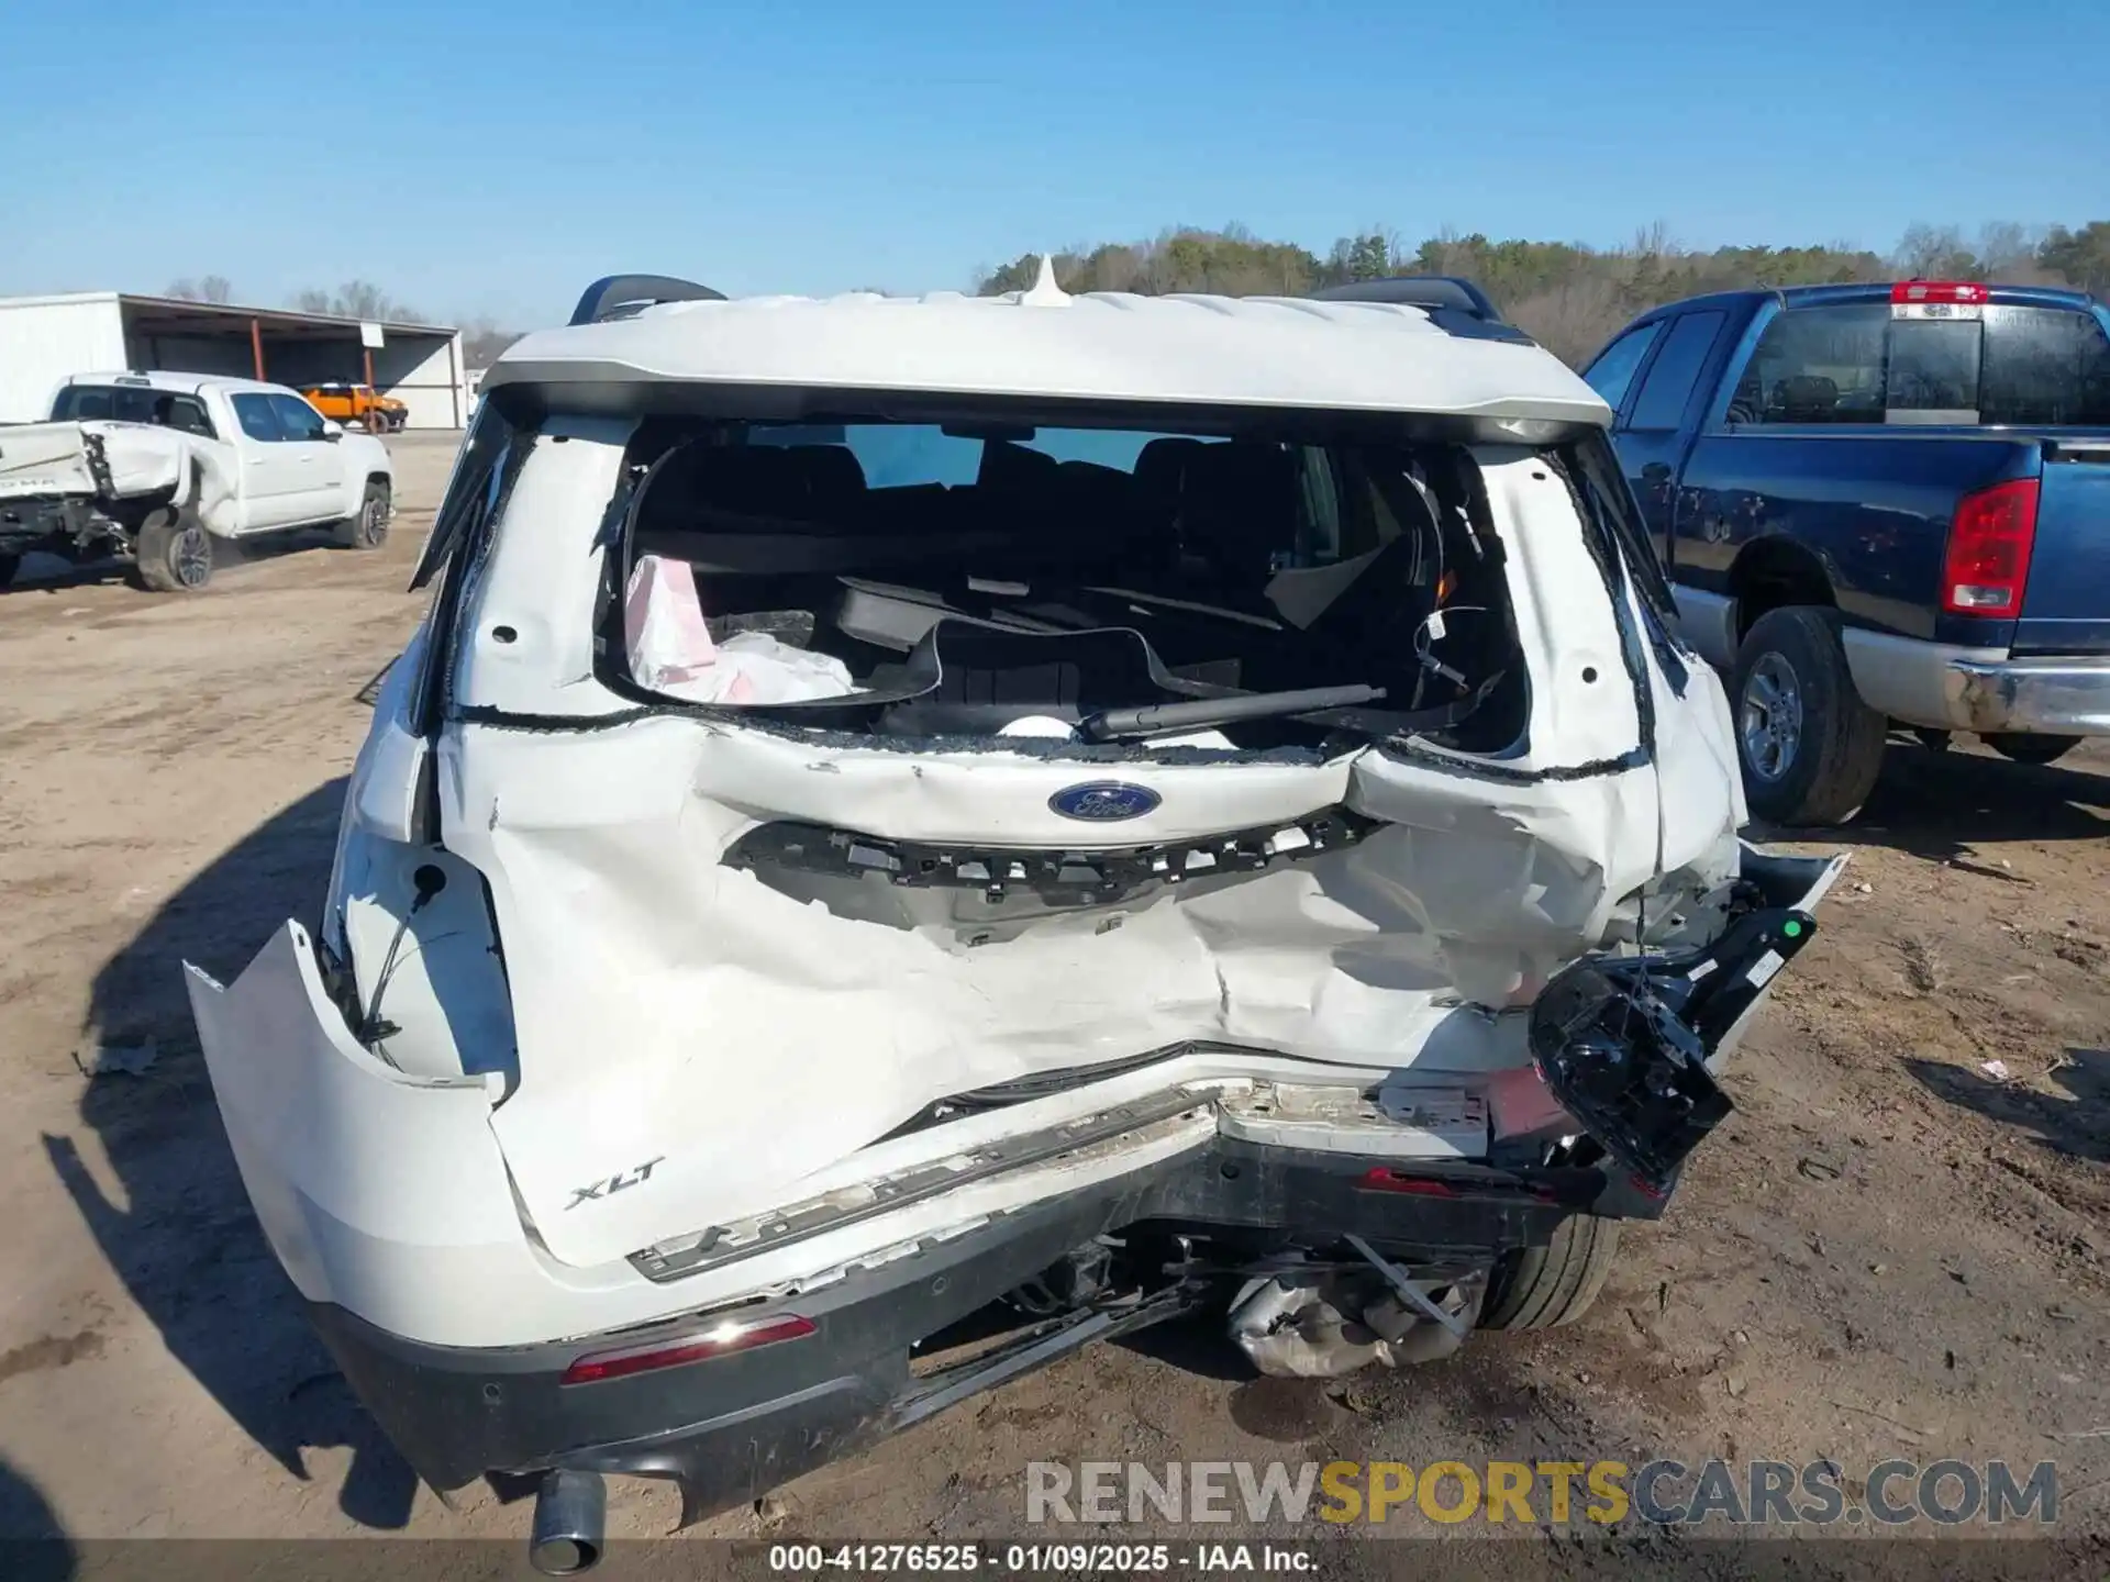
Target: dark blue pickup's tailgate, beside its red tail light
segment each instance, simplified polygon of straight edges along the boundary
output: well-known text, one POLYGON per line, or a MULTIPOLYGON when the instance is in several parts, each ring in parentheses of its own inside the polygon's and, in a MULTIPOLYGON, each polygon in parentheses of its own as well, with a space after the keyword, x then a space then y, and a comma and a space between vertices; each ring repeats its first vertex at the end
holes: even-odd
POLYGON ((2015 654, 2110 654, 2110 430, 2045 439, 2015 654))

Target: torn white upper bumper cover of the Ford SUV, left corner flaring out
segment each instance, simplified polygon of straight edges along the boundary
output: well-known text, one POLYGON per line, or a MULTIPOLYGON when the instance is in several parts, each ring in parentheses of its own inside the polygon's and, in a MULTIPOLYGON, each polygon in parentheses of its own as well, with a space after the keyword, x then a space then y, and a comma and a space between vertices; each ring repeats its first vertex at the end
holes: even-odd
MULTIPOLYGON (((1217 1135, 1222 1095, 1270 1078, 1353 1080, 1302 1061, 1203 1053, 1112 1076, 1091 1095, 971 1116, 943 1139, 901 1137, 838 1160, 776 1207, 869 1198, 874 1183, 931 1160, 968 1158, 1009 1133, 1059 1126, 1093 1107, 1167 1093, 1192 1099, 1133 1133, 656 1285, 622 1257, 578 1268, 542 1251, 492 1128, 500 1080, 435 1080, 363 1050, 329 1004, 298 924, 274 934, 234 983, 222 987, 188 968, 188 987, 243 1185, 293 1285, 310 1301, 340 1304, 437 1346, 532 1344, 812 1289, 888 1247, 956 1236, 1049 1196, 1177 1160, 1217 1135)), ((1403 1152, 1426 1152, 1409 1133, 1401 1137, 1403 1152)), ((743 1234, 736 1223, 728 1230, 743 1234)))

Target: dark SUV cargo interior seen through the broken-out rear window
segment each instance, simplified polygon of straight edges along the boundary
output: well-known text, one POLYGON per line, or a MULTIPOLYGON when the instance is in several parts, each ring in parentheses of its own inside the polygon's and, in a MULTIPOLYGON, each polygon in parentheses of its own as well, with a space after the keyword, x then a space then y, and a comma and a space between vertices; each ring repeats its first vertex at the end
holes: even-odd
POLYGON ((713 643, 846 669, 781 719, 1234 751, 1523 734, 1502 546, 1458 445, 652 418, 629 462, 618 589, 658 557, 713 643), (1156 724, 1163 705, 1184 709, 1156 724))

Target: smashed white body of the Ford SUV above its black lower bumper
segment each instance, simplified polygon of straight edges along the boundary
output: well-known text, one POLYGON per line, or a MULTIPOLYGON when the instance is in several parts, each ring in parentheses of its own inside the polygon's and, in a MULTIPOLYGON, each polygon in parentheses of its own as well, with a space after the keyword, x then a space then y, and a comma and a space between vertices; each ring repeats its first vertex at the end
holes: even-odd
POLYGON ((1547 983, 1760 907, 1722 688, 1637 580, 1608 413, 1542 352, 1361 308, 924 308, 648 310, 530 346, 485 411, 314 949, 192 979, 310 1297, 502 1346, 1085 1185, 1142 1202, 1215 1179, 1205 1147, 1350 1192, 1357 1160, 1369 1192, 1395 1160, 1587 1173, 1593 1095, 1534 1065, 1547 983), (899 390, 852 405, 882 365, 899 390), (996 413, 928 405, 956 380, 996 413), (1025 392, 1114 407, 1070 430, 1025 392), (644 641, 627 589, 677 618, 644 641), (686 692, 785 616, 848 692, 686 692), (447 1164, 390 1183, 401 1147, 447 1164))

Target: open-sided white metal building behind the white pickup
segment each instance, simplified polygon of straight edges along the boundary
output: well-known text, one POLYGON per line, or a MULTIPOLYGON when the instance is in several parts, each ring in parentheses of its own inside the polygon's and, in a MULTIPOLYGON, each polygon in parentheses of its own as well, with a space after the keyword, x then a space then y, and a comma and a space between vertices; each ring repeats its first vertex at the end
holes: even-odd
POLYGON ((462 335, 447 325, 363 327, 291 308, 124 291, 0 297, 0 422, 36 422, 61 380, 114 369, 371 384, 409 409, 407 428, 460 428, 468 416, 462 335), (380 346, 369 346, 376 335, 380 346))

